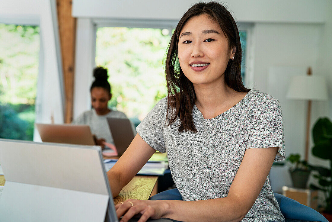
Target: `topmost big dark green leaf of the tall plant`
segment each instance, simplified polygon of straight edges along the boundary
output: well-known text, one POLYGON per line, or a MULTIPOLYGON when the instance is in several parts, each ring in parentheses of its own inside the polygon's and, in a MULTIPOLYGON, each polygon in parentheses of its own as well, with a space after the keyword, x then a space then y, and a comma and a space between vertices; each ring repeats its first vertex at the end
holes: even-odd
POLYGON ((314 143, 326 139, 332 135, 332 122, 328 118, 319 118, 312 129, 314 143))

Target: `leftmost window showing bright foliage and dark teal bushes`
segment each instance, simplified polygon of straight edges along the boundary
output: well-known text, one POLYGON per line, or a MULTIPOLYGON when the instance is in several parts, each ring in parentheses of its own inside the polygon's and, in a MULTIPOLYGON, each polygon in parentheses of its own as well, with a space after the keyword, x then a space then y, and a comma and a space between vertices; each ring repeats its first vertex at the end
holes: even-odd
POLYGON ((0 138, 33 140, 40 29, 0 24, 0 138))

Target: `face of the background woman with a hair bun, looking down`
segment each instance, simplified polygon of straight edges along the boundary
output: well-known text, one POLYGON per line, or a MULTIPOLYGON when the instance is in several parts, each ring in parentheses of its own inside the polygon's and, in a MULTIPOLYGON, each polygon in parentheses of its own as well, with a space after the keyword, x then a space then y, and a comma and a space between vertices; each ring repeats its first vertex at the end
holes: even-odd
POLYGON ((98 115, 104 115, 109 112, 107 103, 111 95, 102 87, 93 87, 91 90, 91 105, 98 115))

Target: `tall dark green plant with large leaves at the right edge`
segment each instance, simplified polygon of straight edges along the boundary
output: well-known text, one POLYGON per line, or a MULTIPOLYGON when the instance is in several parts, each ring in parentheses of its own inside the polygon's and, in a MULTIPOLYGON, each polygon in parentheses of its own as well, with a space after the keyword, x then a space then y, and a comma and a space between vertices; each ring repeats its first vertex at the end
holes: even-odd
POLYGON ((329 167, 313 167, 314 177, 318 185, 311 184, 310 188, 321 190, 325 196, 324 212, 332 214, 332 123, 328 118, 319 118, 312 129, 314 146, 312 155, 329 161, 329 167))

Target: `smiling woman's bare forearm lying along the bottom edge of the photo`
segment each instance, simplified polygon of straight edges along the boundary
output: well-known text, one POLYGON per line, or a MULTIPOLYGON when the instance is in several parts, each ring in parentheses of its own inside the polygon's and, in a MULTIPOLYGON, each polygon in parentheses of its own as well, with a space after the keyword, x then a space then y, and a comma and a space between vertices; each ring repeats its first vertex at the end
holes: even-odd
POLYGON ((197 201, 165 200, 164 217, 179 221, 241 221, 247 211, 235 198, 197 201))

